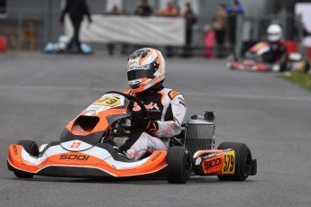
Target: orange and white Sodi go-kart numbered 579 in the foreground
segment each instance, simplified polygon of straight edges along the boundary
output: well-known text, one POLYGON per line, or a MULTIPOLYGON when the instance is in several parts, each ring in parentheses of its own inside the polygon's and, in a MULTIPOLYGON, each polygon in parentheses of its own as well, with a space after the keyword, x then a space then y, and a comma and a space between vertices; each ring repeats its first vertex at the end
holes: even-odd
POLYGON ((128 139, 128 131, 135 128, 135 124, 123 124, 133 116, 133 103, 147 115, 144 104, 132 95, 104 94, 69 121, 59 141, 40 148, 32 140, 11 144, 8 169, 20 178, 160 175, 169 183, 181 184, 187 183, 190 175, 217 175, 220 180, 239 181, 256 175, 257 161, 245 144, 224 142, 214 149, 214 112, 192 116, 182 132, 170 139, 168 150, 156 150, 137 161, 125 157, 111 141, 122 145, 120 140, 128 139))

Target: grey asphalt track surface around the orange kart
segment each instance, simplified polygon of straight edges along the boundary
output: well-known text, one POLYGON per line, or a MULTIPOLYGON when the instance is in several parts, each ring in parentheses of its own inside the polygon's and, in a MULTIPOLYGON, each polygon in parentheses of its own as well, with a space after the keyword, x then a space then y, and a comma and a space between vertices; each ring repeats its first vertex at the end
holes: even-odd
POLYGON ((125 60, 0 55, 0 206, 310 206, 311 94, 275 74, 233 72, 204 58, 169 58, 165 85, 185 94, 187 117, 215 111, 216 144, 246 143, 258 175, 245 182, 193 177, 188 184, 15 178, 6 168, 8 145, 57 140, 98 96, 126 88, 125 60))

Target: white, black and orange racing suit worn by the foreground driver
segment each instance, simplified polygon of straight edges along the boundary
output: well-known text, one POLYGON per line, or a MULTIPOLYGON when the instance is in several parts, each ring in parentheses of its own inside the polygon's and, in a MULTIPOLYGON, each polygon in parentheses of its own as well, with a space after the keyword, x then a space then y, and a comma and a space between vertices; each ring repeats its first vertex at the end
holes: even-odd
MULTIPOLYGON (((151 136, 143 130, 133 130, 124 145, 120 148, 123 153, 133 159, 141 158, 146 152, 167 149, 169 138, 178 135, 181 123, 186 115, 187 107, 183 94, 161 86, 158 90, 148 90, 133 94, 131 90, 124 92, 139 98, 145 105, 147 114, 153 121, 157 121, 158 129, 151 136)), ((133 105, 133 111, 140 111, 140 106, 133 105)), ((129 125, 130 121, 126 123, 129 125)))

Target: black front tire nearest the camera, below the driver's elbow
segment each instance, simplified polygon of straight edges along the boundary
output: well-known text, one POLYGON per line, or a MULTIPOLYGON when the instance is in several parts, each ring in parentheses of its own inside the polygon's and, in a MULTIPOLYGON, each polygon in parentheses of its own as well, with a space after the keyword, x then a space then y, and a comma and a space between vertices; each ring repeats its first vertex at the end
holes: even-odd
POLYGON ((191 157, 187 148, 169 148, 167 157, 169 184, 186 184, 191 173, 191 157))

